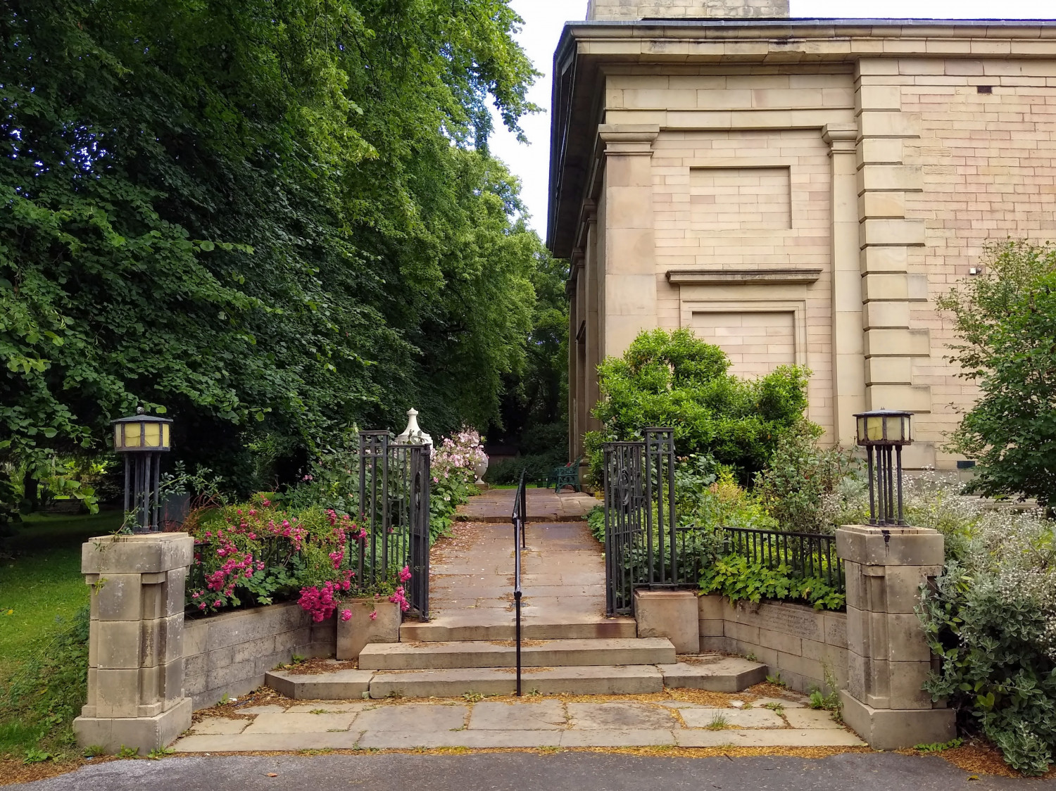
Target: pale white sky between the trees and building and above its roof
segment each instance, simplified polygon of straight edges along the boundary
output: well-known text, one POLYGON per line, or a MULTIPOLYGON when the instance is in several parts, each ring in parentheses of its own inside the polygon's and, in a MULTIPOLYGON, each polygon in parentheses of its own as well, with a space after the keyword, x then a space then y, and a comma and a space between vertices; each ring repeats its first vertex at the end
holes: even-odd
MULTIPOLYGON (((1000 12, 1005 19, 1054 19, 1056 0, 791 0, 793 17, 924 17, 991 19, 1000 12), (853 7, 853 11, 849 8, 853 7)), ((512 0, 525 20, 517 37, 543 76, 529 97, 544 112, 525 118, 522 126, 530 145, 496 123, 491 150, 520 176, 522 197, 531 213, 531 225, 546 236, 547 181, 550 167, 550 68, 553 50, 567 20, 586 17, 586 0, 512 0)), ((496 119, 497 120, 497 119, 496 119)))

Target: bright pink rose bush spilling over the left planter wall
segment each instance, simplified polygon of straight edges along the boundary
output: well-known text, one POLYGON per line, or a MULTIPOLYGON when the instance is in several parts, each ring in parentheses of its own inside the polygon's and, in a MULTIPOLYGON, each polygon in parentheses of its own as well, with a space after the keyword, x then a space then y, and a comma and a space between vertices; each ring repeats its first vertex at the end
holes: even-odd
POLYGON ((348 620, 352 611, 342 602, 357 597, 390 595, 404 611, 410 606, 407 567, 396 573, 398 582, 362 588, 354 564, 367 531, 334 509, 295 513, 258 495, 246 505, 202 512, 186 529, 194 538, 188 604, 201 614, 296 599, 318 623, 335 613, 348 620))

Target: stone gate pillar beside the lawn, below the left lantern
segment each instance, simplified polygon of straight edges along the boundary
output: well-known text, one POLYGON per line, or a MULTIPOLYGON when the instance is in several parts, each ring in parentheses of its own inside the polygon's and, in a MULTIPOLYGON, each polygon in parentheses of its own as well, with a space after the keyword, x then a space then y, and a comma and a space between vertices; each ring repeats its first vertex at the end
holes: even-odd
POLYGON ((78 742, 146 754, 190 728, 184 696, 187 533, 106 535, 81 547, 92 586, 88 701, 73 722, 78 742))

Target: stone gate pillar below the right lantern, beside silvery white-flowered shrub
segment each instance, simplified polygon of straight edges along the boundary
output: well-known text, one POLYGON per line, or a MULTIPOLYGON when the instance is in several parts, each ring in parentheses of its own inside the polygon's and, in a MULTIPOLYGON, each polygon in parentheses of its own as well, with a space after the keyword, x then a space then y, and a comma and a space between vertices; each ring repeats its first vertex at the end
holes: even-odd
POLYGON ((921 686, 931 651, 913 607, 942 573, 943 538, 920 527, 848 525, 836 530, 847 576, 844 721, 878 750, 948 741, 955 715, 921 686))

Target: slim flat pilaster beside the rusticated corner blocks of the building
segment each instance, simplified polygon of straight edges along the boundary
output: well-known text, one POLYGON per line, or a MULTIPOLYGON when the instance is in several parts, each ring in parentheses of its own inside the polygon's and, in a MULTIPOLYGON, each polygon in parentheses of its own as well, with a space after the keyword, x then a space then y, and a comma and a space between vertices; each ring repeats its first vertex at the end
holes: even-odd
POLYGON ((865 411, 857 124, 829 124, 822 136, 832 161, 832 425, 836 442, 851 448, 854 414, 865 411))

